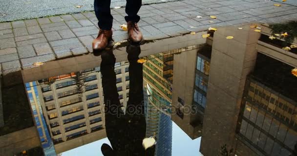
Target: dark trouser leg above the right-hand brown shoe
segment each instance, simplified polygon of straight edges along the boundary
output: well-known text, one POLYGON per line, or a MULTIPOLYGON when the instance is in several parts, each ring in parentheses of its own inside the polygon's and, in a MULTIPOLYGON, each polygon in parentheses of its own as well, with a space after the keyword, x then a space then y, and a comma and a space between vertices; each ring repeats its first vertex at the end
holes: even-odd
POLYGON ((126 0, 126 13, 128 16, 125 16, 125 20, 138 22, 140 17, 137 15, 140 7, 141 7, 141 0, 126 0))

